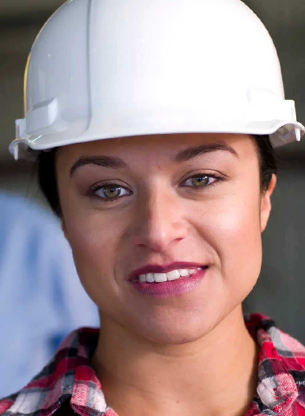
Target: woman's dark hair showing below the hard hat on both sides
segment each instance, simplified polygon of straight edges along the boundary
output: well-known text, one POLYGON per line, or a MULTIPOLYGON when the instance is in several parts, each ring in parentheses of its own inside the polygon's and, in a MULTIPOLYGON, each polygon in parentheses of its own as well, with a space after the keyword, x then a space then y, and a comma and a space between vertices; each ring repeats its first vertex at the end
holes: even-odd
MULTIPOLYGON (((278 163, 269 136, 253 136, 259 157, 260 188, 267 191, 273 173, 277 173, 278 163)), ((62 210, 57 189, 55 153, 57 149, 40 152, 38 156, 38 183, 54 213, 61 217, 62 210)))

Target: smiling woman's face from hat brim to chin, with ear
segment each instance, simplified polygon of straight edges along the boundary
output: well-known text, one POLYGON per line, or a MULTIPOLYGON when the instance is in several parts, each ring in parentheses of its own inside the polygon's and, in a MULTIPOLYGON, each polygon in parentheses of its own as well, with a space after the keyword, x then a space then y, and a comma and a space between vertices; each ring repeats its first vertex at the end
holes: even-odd
POLYGON ((250 136, 94 141, 60 148, 56 166, 63 229, 104 319, 181 344, 252 290, 275 178, 262 194, 250 136))

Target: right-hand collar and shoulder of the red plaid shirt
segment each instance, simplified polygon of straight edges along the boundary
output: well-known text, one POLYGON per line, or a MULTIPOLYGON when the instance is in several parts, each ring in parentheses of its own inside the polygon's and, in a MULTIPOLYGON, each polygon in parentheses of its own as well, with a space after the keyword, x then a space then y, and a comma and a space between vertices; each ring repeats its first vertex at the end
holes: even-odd
POLYGON ((245 324, 260 347, 258 404, 272 414, 305 416, 305 347, 279 329, 273 319, 250 314, 245 324))

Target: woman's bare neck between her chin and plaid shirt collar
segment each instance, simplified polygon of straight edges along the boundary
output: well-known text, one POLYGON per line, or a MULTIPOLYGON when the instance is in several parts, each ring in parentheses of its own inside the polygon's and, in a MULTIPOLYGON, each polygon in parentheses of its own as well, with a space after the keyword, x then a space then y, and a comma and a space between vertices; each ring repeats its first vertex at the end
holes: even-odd
POLYGON ((149 342, 101 314, 92 365, 120 416, 243 415, 257 387, 258 348, 241 306, 209 334, 183 345, 149 342))

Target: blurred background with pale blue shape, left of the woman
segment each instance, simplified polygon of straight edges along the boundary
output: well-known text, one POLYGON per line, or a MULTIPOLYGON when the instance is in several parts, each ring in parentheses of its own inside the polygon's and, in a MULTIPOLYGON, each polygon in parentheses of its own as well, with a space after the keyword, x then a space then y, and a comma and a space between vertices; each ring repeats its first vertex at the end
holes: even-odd
POLYGON ((0 0, 0 398, 21 389, 76 328, 99 325, 35 165, 7 146, 23 117, 23 74, 40 28, 61 0, 0 0))

